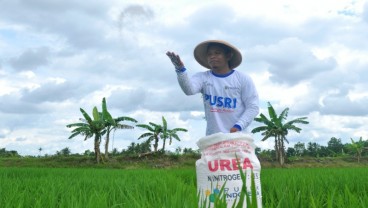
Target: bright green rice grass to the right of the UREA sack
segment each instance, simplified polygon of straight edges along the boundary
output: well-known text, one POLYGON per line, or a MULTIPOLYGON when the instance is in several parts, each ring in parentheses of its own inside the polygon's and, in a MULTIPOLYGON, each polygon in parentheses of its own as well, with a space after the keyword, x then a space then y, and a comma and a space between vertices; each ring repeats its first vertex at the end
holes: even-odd
POLYGON ((266 169, 263 203, 265 207, 368 207, 367 173, 367 167, 266 169))

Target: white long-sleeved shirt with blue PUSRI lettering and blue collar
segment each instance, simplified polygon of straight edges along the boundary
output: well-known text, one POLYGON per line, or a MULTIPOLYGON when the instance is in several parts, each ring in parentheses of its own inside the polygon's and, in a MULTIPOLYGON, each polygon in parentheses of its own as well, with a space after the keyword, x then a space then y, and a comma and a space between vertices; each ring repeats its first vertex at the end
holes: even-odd
POLYGON ((259 113, 258 93, 248 75, 236 70, 226 75, 199 72, 191 78, 186 71, 177 74, 179 85, 186 95, 202 93, 206 135, 229 133, 234 126, 246 131, 259 113))

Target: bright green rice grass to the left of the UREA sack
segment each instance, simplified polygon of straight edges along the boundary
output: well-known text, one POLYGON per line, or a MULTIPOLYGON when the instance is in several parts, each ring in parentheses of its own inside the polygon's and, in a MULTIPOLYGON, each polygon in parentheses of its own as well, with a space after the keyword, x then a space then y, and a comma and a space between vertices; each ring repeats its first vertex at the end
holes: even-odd
POLYGON ((193 170, 1 168, 1 207, 195 207, 193 170))

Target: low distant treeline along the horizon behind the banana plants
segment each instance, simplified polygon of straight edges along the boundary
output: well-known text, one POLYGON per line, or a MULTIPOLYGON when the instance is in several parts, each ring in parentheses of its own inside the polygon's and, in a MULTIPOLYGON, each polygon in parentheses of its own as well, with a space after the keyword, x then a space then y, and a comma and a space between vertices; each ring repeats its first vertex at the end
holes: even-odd
MULTIPOLYGON (((42 148, 39 149, 39 155, 34 157, 65 157, 65 156, 91 156, 95 153, 91 150, 85 150, 84 153, 72 153, 69 147, 65 147, 59 151, 56 151, 53 155, 42 154, 42 148)), ((108 154, 110 157, 123 156, 123 157, 142 157, 147 153, 152 153, 152 145, 150 141, 144 141, 141 143, 132 142, 127 148, 118 150, 117 148, 112 149, 108 154)), ((328 142, 327 146, 323 146, 316 142, 298 142, 293 147, 286 149, 287 158, 295 157, 339 157, 339 156, 351 156, 356 157, 359 162, 361 157, 368 156, 368 140, 360 138, 357 141, 351 139, 351 143, 343 144, 340 138, 332 137, 328 142)), ((192 148, 181 148, 177 147, 175 151, 160 150, 157 154, 161 155, 191 155, 193 157, 200 157, 198 149, 192 148)), ((256 148, 256 154, 260 159, 276 161, 275 150, 256 148)), ((0 157, 20 157, 17 151, 7 151, 5 148, 0 149, 0 157)), ((28 156, 29 157, 29 156, 28 156)))

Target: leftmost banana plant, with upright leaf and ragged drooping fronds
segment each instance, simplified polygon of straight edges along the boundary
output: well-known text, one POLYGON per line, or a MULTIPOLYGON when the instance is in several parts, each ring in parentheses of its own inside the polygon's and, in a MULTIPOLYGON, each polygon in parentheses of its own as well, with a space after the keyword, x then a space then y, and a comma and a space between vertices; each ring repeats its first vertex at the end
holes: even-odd
POLYGON ((85 137, 84 140, 87 140, 88 138, 94 136, 95 159, 97 163, 100 163, 100 144, 102 136, 106 133, 105 125, 107 122, 116 125, 115 121, 107 111, 105 98, 102 100, 102 113, 98 112, 97 107, 93 108, 93 119, 82 108, 80 108, 80 111, 84 117, 84 119, 80 119, 82 122, 73 123, 66 126, 68 128, 76 127, 72 130, 72 135, 68 139, 72 139, 77 135, 82 135, 85 137))

